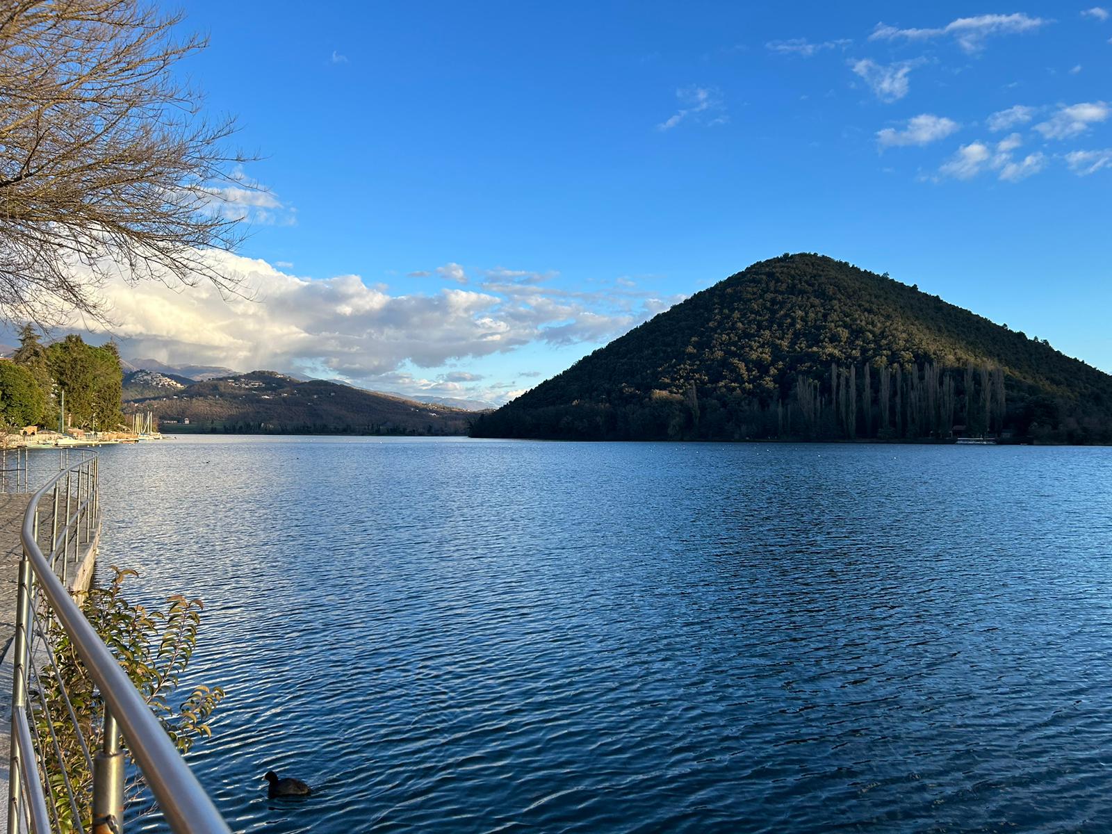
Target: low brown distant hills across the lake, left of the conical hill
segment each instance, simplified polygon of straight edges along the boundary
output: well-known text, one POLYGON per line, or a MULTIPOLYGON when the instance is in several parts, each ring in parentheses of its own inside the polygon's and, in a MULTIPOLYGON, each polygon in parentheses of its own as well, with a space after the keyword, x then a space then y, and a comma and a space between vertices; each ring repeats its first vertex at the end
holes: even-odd
POLYGON ((162 367, 125 375, 125 410, 153 411, 169 434, 464 435, 474 419, 460 408, 270 370, 193 381, 173 373, 190 366, 162 367))

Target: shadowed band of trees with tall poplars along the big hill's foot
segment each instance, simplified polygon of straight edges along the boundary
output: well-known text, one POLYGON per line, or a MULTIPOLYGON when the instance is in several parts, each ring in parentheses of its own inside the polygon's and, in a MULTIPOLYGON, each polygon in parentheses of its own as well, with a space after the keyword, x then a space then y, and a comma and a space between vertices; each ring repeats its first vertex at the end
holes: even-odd
POLYGON ((580 440, 946 440, 966 435, 1112 441, 1098 414, 1070 414, 1075 404, 1043 395, 1019 394, 1010 401, 1006 390, 1000 368, 832 363, 822 379, 796 375, 788 391, 766 400, 689 385, 683 395, 654 390, 643 401, 623 405, 510 405, 480 416, 473 435, 580 440))

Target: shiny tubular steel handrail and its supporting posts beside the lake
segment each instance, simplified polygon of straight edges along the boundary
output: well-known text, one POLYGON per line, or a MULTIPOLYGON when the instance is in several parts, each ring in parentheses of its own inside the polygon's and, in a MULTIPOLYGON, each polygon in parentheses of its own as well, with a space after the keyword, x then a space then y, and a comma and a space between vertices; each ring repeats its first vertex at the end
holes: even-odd
MULTIPOLYGON (((39 590, 41 590, 49 603, 52 614, 61 624, 86 672, 97 685, 103 698, 103 746, 97 752, 93 766, 93 832, 118 832, 122 830, 123 821, 120 818, 123 800, 122 758, 119 752, 119 731, 122 731, 128 749, 138 763, 146 783, 150 786, 160 811, 175 834, 201 834, 202 832, 205 834, 230 834, 227 823, 225 823, 220 813, 216 810, 216 805, 212 804, 205 788, 201 787, 197 777, 193 776, 189 766, 178 753, 166 729, 143 701, 138 689, 136 689, 131 679, 117 662, 108 646, 101 641, 100 636, 89 624, 89 620, 85 618, 80 608, 70 597, 62 580, 56 575, 51 559, 48 559, 39 547, 37 523, 39 502, 51 489, 57 490, 61 478, 72 475, 75 470, 77 470, 79 476, 79 490, 81 489, 81 478, 83 477, 88 481, 86 488, 89 490, 89 497, 82 502, 79 492, 78 510, 73 515, 73 518, 67 518, 67 528, 80 518, 82 509, 88 512, 90 506, 95 514, 92 522, 98 523, 99 519, 96 517, 96 514, 99 509, 99 500, 93 497, 97 490, 96 460, 92 460, 91 468, 87 468, 83 473, 80 471, 80 468, 86 467, 90 460, 91 458, 86 458, 60 470, 31 496, 27 512, 23 515, 21 536, 27 567, 21 565, 20 614, 23 613, 24 607, 30 607, 31 586, 37 582, 39 590), (28 585, 26 588, 23 583, 24 575, 28 585), (117 723, 119 724, 119 731, 116 729, 117 723), (109 759, 111 761, 109 762, 109 759), (101 777, 101 782, 103 783, 112 783, 112 790, 105 793, 102 786, 98 785, 98 776, 101 777), (118 795, 111 796, 110 794, 112 793, 118 795)), ((56 516, 56 525, 57 520, 56 516)), ((78 524, 79 529, 80 526, 78 524)), ((54 540, 51 543, 51 557, 57 555, 59 547, 58 536, 56 535, 53 538, 54 540)), ((62 543, 66 543, 66 535, 63 535, 62 543)), ((20 666, 21 661, 24 664, 27 663, 27 657, 26 655, 22 658, 19 656, 21 651, 27 652, 30 646, 26 618, 23 620, 22 634, 17 628, 14 645, 17 648, 17 668, 14 669, 16 691, 12 698, 13 725, 16 722, 14 713, 17 712, 23 714, 26 722, 26 699, 19 703, 19 687, 23 687, 24 696, 27 691, 26 666, 20 666)), ((23 747, 22 739, 12 738, 13 759, 17 755, 17 743, 19 747, 23 747)), ((33 748, 30 751, 21 749, 20 752, 23 754, 21 759, 22 757, 29 758, 34 755, 33 748)), ((22 761, 20 765, 23 766, 22 761)), ((33 770, 33 767, 30 770, 33 770)), ((38 780, 36 780, 37 782, 38 780)), ((39 788, 38 797, 41 800, 42 786, 38 784, 34 786, 39 788)), ((32 785, 29 783, 27 787, 31 788, 32 785)), ((28 798, 31 801, 31 808, 37 812, 37 802, 33 793, 30 791, 28 798)), ((12 774, 11 802, 18 803, 14 773, 12 774)), ((12 813, 11 807, 9 807, 9 821, 12 820, 12 813)), ((37 834, 46 834, 46 832, 39 831, 39 820, 36 820, 39 816, 38 813, 32 814, 32 825, 37 834)), ((9 832, 9 834, 14 834, 14 832, 9 832)))

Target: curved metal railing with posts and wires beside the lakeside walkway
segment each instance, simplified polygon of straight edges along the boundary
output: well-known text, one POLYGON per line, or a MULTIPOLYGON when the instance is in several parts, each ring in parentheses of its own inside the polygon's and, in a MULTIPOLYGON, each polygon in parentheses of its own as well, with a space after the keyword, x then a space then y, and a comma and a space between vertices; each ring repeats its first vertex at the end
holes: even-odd
POLYGON ((230 834, 161 723, 81 614, 64 584, 67 565, 81 559, 82 546, 87 553, 96 546, 100 530, 98 458, 85 453, 77 463, 69 466, 67 463, 63 460, 61 470, 31 496, 23 516, 23 557, 19 565, 13 638, 8 834, 18 834, 24 821, 34 834, 63 828, 86 832, 86 812, 70 783, 56 727, 76 734, 77 755, 83 757, 92 773, 93 834, 119 834, 123 830, 121 734, 176 834, 230 834), (43 524, 47 516, 49 524, 43 524), (44 535, 47 554, 40 545, 44 535), (81 728, 59 672, 56 641, 51 639, 59 632, 80 659, 102 702, 99 727, 91 724, 87 726, 88 733, 81 728), (43 678, 61 696, 60 703, 54 701, 54 715, 50 713, 43 678), (97 731, 99 743, 86 737, 97 731), (59 808, 67 807, 73 813, 71 822, 63 825, 62 817, 68 815, 59 808))

